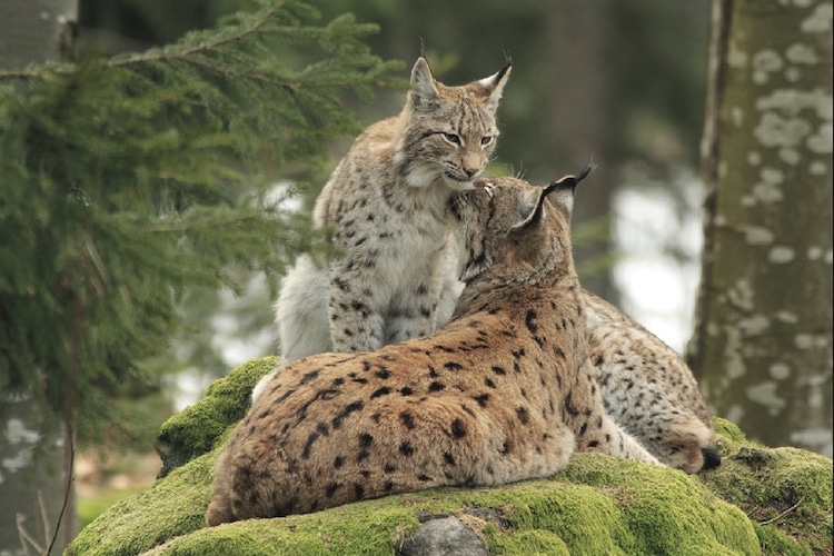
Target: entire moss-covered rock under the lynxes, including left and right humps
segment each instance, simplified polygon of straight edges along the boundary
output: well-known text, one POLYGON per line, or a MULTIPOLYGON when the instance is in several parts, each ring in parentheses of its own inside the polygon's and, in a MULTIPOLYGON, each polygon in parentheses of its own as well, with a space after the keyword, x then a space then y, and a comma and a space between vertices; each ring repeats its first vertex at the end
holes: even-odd
POLYGON ((101 515, 67 554, 395 554, 425 513, 459 517, 490 554, 832 553, 832 461, 752 445, 722 419, 724 463, 698 476, 577 454, 546 479, 423 490, 206 528, 215 458, 248 408, 251 387, 275 363, 244 365, 166 423, 168 475, 101 515), (470 508, 492 508, 495 518, 470 508))

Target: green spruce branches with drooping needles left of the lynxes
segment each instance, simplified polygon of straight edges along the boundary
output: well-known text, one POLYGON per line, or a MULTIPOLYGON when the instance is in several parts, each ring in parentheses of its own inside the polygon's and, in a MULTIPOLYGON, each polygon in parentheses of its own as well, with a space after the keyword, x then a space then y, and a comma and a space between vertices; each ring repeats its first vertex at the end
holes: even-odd
POLYGON ((188 288, 325 249, 266 168, 322 163, 360 129, 346 99, 397 64, 364 44, 375 26, 258 6, 140 54, 0 70, 0 390, 32 397, 44 439, 123 418, 111 394, 167 349, 188 288))

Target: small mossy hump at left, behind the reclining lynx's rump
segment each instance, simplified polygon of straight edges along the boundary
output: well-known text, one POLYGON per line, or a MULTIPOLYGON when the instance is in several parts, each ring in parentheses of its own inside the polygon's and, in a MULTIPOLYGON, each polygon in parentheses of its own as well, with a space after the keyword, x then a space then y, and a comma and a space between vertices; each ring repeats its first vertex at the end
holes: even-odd
POLYGON ((210 451, 217 439, 244 418, 252 388, 277 364, 277 357, 264 357, 241 365, 215 380, 200 401, 165 421, 157 437, 157 451, 162 458, 160 476, 210 451))

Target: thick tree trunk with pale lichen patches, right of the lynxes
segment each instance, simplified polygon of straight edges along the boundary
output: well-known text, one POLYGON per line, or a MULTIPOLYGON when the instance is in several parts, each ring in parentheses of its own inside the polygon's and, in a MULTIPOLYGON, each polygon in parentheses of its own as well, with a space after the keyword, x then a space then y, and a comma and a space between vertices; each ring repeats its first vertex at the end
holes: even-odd
POLYGON ((688 359, 712 409, 832 455, 831 2, 714 0, 688 359))

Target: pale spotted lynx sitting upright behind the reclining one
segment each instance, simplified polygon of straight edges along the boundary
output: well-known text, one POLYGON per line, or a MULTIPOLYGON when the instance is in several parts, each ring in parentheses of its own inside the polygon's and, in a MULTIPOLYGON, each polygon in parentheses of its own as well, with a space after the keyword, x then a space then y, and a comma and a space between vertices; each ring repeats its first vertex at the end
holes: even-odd
POLYGON ((359 136, 316 201, 315 224, 332 226, 345 254, 327 268, 301 257, 285 278, 276 304, 282 363, 377 349, 448 320, 463 285, 446 209, 489 161, 509 73, 507 64, 446 87, 417 60, 403 111, 359 136))

